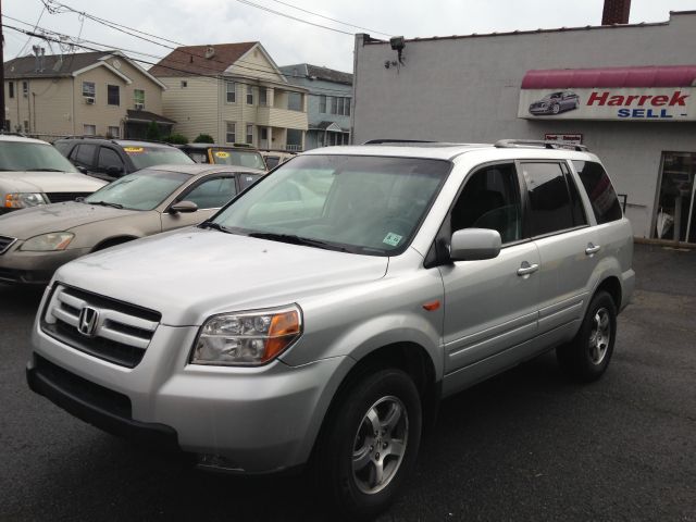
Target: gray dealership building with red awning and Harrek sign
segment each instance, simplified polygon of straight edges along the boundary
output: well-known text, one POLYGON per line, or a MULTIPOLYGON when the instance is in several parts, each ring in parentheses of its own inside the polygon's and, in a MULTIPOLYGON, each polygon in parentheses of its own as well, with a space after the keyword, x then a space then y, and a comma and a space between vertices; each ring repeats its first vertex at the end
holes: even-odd
POLYGON ((696 11, 619 23, 383 41, 356 35, 353 142, 585 145, 636 237, 696 243, 696 11))

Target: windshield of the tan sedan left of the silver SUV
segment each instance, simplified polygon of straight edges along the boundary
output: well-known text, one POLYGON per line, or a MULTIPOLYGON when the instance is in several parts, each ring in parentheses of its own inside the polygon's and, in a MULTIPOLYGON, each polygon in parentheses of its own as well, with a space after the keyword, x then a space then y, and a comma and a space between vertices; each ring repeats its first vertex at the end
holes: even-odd
POLYGON ((142 170, 123 176, 85 198, 88 203, 109 203, 129 210, 153 210, 190 174, 142 170))

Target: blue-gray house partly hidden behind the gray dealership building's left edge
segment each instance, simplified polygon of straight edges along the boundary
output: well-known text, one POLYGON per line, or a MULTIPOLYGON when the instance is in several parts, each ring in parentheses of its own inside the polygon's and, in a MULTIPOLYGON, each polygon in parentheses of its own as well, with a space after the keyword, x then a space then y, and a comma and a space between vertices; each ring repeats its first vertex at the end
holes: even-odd
POLYGON ((304 148, 350 142, 352 74, 309 63, 279 67, 290 84, 309 89, 304 148))

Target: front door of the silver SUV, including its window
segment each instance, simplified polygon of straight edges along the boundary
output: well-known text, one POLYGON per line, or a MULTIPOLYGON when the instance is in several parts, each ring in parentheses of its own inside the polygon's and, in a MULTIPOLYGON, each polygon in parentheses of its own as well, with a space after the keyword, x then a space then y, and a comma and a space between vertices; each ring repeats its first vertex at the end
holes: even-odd
MULTIPOLYGON (((502 240, 495 259, 439 268, 445 285, 446 373, 486 359, 489 364, 480 366, 482 373, 474 378, 495 373, 520 353, 495 356, 536 335, 540 261, 536 245, 524 236, 522 201, 514 163, 486 165, 468 176, 444 225, 449 225, 444 237, 473 227, 496 229, 502 240)), ((462 378, 471 378, 469 374, 462 373, 462 378)))

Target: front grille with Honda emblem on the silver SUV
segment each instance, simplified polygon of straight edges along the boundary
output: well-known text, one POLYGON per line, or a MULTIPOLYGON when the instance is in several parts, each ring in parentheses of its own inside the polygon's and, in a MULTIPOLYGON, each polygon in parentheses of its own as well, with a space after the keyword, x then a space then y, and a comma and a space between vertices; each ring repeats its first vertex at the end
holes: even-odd
POLYGON ((77 288, 59 286, 41 315, 51 337, 90 356, 135 368, 162 315, 77 288))

